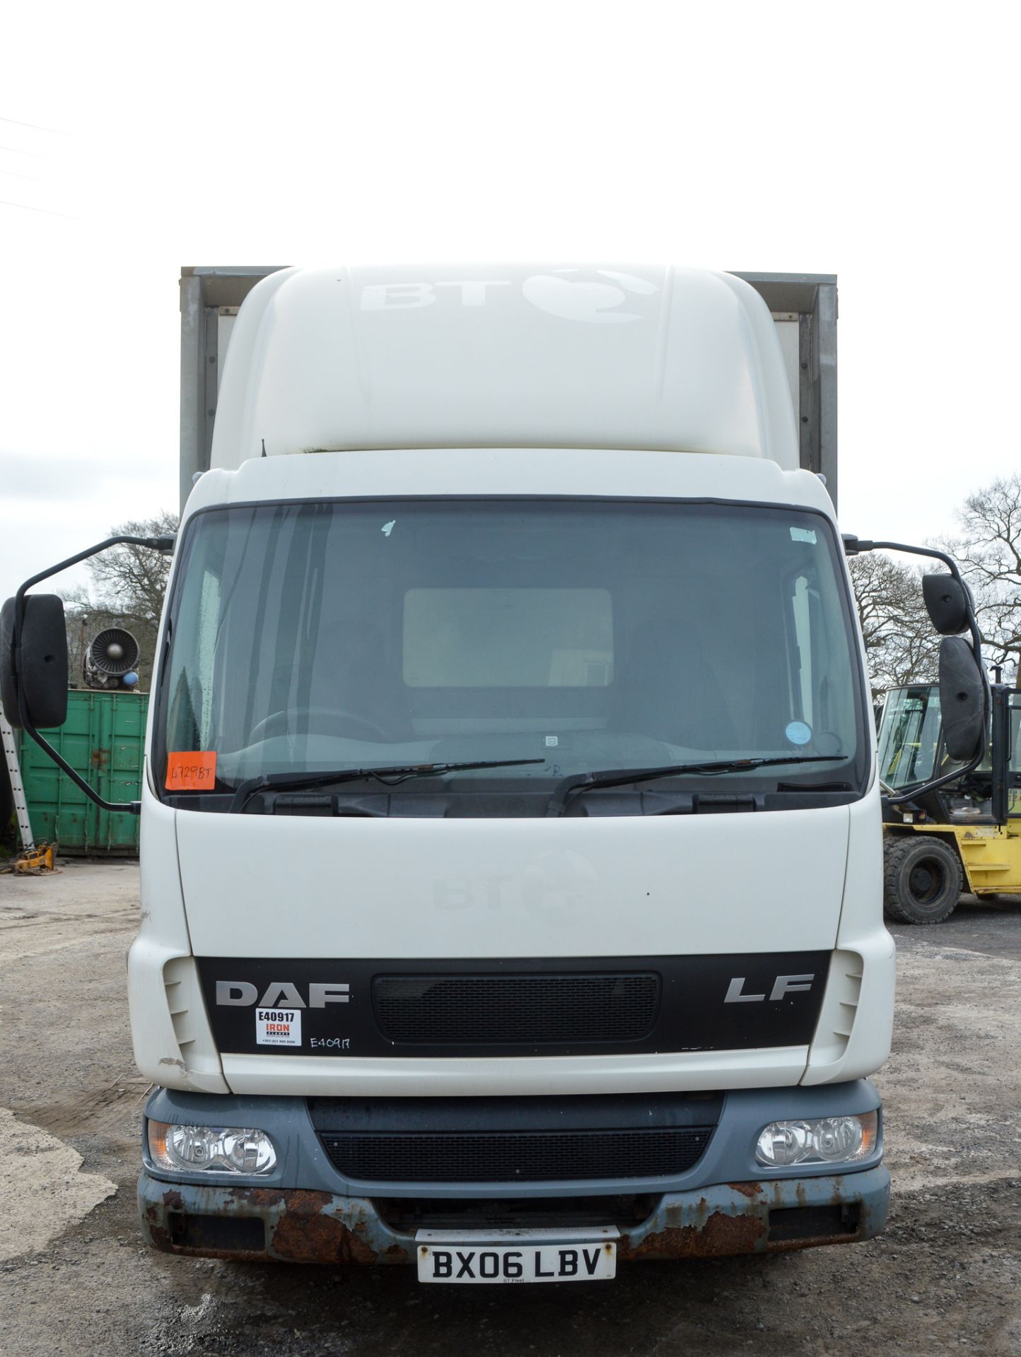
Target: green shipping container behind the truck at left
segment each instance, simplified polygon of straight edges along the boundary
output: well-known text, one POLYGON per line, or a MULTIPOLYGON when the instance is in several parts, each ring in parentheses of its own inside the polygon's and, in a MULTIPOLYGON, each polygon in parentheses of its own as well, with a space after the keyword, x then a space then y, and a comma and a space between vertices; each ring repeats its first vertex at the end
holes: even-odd
MULTIPOLYGON (((145 712, 149 695, 138 692, 68 693, 68 719, 42 734, 105 801, 141 798, 145 712)), ((100 810, 20 731, 24 799, 37 843, 57 843, 62 854, 137 856, 138 817, 100 810)))

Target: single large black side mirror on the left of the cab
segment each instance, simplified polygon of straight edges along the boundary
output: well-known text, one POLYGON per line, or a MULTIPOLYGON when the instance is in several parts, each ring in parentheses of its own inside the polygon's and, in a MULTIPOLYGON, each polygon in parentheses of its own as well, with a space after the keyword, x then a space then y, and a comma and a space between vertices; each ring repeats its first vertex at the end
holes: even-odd
POLYGON ((34 726, 62 726, 68 719, 68 634, 64 600, 26 594, 18 670, 14 653, 14 608, 0 608, 0 702, 12 726, 22 725, 20 696, 34 726))

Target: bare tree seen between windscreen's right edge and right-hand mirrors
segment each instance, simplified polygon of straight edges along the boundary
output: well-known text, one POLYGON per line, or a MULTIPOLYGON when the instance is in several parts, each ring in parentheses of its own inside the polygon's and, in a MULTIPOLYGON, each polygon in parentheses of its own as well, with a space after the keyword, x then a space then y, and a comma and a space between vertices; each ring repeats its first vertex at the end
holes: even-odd
POLYGON ((931 683, 940 653, 922 600, 921 573, 880 551, 849 560, 876 702, 887 688, 931 683))

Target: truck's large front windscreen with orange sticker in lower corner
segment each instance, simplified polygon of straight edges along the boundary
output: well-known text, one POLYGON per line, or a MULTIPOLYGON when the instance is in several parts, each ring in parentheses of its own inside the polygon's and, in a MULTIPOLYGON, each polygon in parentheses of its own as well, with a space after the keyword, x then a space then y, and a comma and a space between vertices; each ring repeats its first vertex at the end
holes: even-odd
POLYGON ((851 635, 830 525, 798 510, 206 510, 177 571, 156 768, 186 794, 265 773, 538 759, 485 778, 549 791, 591 769, 824 754, 743 780, 859 788, 851 635))

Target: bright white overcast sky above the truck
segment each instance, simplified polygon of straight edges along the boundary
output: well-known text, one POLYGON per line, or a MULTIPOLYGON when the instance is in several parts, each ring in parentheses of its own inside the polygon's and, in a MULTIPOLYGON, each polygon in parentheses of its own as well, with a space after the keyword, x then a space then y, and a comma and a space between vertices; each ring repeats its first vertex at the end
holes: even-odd
POLYGON ((177 508, 181 265, 836 273, 844 529, 938 535, 1018 465, 1011 7, 18 11, 0 597, 177 508))

